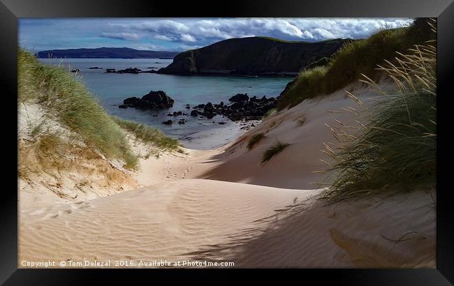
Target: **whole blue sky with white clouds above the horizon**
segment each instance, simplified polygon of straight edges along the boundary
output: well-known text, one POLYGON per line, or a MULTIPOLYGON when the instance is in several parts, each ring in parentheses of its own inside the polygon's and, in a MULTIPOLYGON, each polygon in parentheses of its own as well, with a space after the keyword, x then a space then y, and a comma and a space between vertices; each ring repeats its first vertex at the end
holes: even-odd
POLYGON ((77 47, 183 51, 249 36, 309 42, 367 38, 378 29, 410 22, 402 18, 21 19, 19 44, 34 52, 77 47))

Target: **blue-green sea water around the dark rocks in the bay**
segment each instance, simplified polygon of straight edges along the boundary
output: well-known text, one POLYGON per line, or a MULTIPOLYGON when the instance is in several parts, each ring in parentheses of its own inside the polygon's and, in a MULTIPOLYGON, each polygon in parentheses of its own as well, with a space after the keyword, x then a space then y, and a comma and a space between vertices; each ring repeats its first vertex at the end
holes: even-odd
MULTIPOLYGON (((223 116, 213 119, 201 119, 193 116, 168 116, 168 113, 182 111, 190 113, 194 105, 211 102, 228 103, 228 98, 236 93, 247 93, 249 96, 279 96, 291 77, 224 77, 199 75, 158 75, 155 73, 117 74, 105 73, 106 68, 140 68, 155 70, 168 66, 171 59, 40 59, 43 63, 59 65, 74 70, 78 68, 78 77, 90 89, 109 114, 146 123, 161 129, 170 137, 177 138, 184 146, 191 149, 212 149, 222 146, 228 138, 221 130, 237 130, 234 123, 223 116), (103 69, 89 69, 90 67, 103 69), (175 100, 168 110, 121 109, 118 105, 131 96, 142 97, 149 91, 166 91, 175 100), (185 108, 186 104, 191 109, 185 108), (168 119, 176 120, 172 125, 162 124, 168 119), (178 124, 178 119, 188 120, 178 124), (214 123, 213 123, 214 121, 214 123), (220 125, 224 121, 226 124, 220 125), (212 138, 207 138, 207 137, 212 138), (214 137, 214 138, 213 138, 214 137), (219 137, 219 138, 217 138, 219 137), (204 142, 210 142, 204 144, 204 142)), ((74 74, 75 75, 75 74, 74 74)), ((76 76, 76 75, 75 75, 76 76)))

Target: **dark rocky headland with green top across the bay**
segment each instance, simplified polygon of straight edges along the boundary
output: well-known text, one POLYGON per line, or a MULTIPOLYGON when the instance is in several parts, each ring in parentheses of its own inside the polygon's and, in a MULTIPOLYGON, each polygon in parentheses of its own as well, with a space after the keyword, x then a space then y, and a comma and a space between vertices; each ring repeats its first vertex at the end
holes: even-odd
POLYGON ((311 63, 330 57, 346 41, 305 43, 263 37, 232 38, 177 54, 173 63, 158 73, 295 75, 311 63))

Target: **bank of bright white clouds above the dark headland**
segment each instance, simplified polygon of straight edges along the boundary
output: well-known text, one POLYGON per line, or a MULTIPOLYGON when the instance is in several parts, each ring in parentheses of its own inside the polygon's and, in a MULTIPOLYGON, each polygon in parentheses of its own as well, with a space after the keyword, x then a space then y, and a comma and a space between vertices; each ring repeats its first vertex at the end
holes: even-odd
POLYGON ((129 33, 146 33, 157 40, 213 43, 227 38, 272 36, 284 40, 326 40, 367 38, 380 28, 406 24, 391 18, 235 18, 203 20, 145 20, 111 23, 110 27, 129 33))

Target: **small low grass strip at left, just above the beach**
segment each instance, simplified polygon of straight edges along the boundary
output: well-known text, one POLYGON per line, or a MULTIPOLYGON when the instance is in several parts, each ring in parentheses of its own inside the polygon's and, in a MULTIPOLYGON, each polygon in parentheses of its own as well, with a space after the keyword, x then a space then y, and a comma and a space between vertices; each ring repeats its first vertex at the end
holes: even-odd
POLYGON ((115 123, 124 128, 124 130, 131 132, 136 139, 140 140, 142 143, 152 144, 153 146, 159 147, 161 150, 180 151, 180 142, 164 135, 164 133, 157 128, 152 128, 134 121, 120 119, 116 116, 112 116, 112 118, 115 123))

